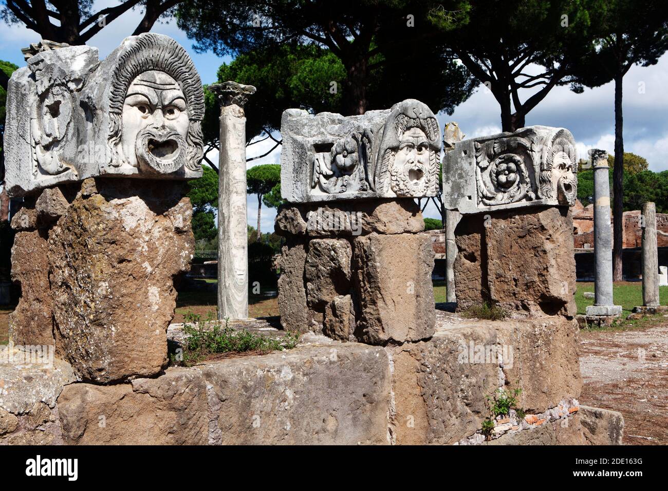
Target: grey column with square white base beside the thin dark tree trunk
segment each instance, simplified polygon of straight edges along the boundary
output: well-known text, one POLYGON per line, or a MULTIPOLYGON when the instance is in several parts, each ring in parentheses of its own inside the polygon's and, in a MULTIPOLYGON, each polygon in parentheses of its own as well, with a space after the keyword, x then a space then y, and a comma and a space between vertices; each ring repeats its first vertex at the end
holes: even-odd
POLYGON ((621 305, 613 305, 613 234, 610 226, 610 182, 608 154, 590 150, 594 168, 594 254, 596 262, 595 301, 587 315, 618 315, 621 305))

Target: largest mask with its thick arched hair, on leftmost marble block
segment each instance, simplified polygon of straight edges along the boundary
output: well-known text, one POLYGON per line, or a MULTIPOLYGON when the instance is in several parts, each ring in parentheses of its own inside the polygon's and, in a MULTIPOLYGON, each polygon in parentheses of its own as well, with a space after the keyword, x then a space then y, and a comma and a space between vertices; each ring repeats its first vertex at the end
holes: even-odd
POLYGON ((204 94, 186 51, 152 33, 119 59, 110 100, 110 164, 170 174, 200 170, 204 94))

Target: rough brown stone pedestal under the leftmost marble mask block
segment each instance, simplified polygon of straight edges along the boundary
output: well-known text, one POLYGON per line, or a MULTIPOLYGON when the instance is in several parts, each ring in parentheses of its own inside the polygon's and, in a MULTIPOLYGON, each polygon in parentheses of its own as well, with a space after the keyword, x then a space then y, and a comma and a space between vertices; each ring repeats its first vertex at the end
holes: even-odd
POLYGON ((56 356, 94 383, 156 375, 167 363, 174 277, 194 252, 187 186, 90 178, 63 190, 44 190, 25 212, 36 220, 15 223, 12 341, 55 342, 56 356), (54 194, 67 199, 44 198, 54 194))

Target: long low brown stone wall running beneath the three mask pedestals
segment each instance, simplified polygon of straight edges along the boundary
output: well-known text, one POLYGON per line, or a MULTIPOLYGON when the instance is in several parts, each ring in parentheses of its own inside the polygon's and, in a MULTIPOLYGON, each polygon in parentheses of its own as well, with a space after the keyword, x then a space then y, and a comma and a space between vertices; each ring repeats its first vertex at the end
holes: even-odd
POLYGON ((439 311, 434 336, 416 343, 308 333, 290 351, 114 385, 77 381, 59 360, 0 363, 0 444, 613 443, 619 415, 590 408, 580 424, 577 331, 558 316, 464 321, 439 311), (487 397, 502 387, 521 390, 526 416, 498 419, 486 438, 487 397))

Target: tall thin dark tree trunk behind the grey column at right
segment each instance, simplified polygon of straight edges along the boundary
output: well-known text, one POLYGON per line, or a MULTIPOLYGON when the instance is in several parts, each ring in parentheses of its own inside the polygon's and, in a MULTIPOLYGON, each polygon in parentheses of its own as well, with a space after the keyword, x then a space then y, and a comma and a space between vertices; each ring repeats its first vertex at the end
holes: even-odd
POLYGON ((615 75, 615 168, 613 170, 613 281, 622 279, 624 230, 624 137, 622 116, 623 73, 615 75))

